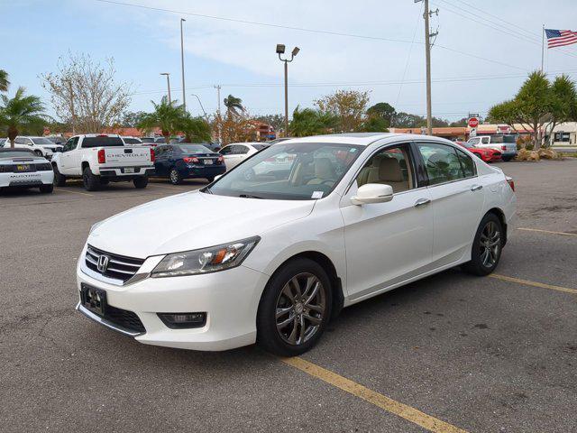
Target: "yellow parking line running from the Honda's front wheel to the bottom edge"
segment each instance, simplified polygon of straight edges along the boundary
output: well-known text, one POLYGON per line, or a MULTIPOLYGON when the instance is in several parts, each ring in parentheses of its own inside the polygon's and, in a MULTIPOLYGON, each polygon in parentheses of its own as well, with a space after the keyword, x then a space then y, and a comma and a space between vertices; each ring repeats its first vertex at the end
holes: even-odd
POLYGON ((427 415, 426 413, 404 403, 392 400, 379 392, 374 392, 357 382, 353 382, 350 379, 337 373, 333 373, 330 370, 326 370, 325 368, 310 363, 302 358, 281 358, 281 361, 298 368, 298 370, 310 374, 321 381, 327 382, 344 392, 349 392, 355 397, 368 401, 382 410, 387 410, 398 417, 407 419, 408 421, 417 424, 417 426, 426 428, 429 431, 437 433, 467 433, 461 428, 454 427, 441 419, 436 419, 435 417, 427 415))

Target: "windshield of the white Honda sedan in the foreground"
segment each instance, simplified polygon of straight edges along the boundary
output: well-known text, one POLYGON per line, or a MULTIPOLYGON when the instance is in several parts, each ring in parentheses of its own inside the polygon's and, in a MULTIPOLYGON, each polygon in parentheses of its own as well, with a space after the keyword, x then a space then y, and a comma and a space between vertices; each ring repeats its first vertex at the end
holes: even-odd
POLYGON ((242 198, 323 198, 336 187, 362 149, 339 143, 275 144, 255 153, 202 191, 242 198))

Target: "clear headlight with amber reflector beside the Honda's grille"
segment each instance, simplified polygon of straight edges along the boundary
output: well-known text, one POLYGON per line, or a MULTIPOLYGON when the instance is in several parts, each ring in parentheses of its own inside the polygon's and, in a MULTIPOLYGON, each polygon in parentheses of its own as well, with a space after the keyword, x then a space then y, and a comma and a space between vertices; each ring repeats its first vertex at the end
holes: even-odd
POLYGON ((202 250, 169 254, 152 270, 151 277, 178 277, 234 268, 243 263, 260 240, 259 236, 254 236, 202 250))

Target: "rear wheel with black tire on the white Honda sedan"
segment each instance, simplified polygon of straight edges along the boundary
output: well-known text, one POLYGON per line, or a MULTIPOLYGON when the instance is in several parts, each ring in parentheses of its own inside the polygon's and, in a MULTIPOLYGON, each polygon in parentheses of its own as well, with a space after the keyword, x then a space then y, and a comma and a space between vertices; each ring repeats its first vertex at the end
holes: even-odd
POLYGON ((463 270, 479 276, 489 275, 495 271, 505 244, 504 236, 505 232, 499 217, 493 213, 485 215, 472 242, 471 262, 464 263, 463 270), (489 235, 490 227, 496 230, 495 236, 489 235))

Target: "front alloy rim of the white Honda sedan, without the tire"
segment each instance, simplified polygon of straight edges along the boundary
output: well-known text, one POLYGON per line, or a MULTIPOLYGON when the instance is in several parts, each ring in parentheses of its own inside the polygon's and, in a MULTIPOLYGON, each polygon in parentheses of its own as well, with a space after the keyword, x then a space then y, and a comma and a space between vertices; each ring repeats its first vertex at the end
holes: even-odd
POLYGON ((325 288, 312 273, 299 273, 282 288, 277 299, 279 336, 289 345, 302 345, 316 335, 325 319, 325 288))

